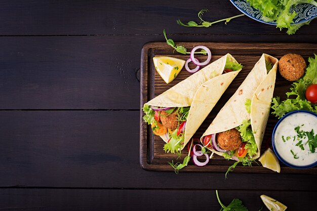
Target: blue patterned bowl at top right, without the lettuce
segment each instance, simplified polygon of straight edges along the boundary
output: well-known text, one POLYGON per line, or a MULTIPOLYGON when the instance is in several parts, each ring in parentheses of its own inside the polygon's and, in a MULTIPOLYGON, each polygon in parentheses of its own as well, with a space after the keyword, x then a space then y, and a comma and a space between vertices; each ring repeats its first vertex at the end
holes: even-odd
MULTIPOLYGON (((246 0, 230 0, 230 2, 242 13, 244 13, 246 16, 249 16, 250 18, 262 23, 276 25, 275 21, 271 21, 271 22, 263 21, 262 13, 259 10, 251 7, 250 3, 247 2, 246 0)), ((293 19, 294 24, 306 22, 317 17, 317 7, 310 4, 297 5, 295 8, 290 9, 290 12, 293 12, 293 11, 297 13, 295 18, 293 19)))

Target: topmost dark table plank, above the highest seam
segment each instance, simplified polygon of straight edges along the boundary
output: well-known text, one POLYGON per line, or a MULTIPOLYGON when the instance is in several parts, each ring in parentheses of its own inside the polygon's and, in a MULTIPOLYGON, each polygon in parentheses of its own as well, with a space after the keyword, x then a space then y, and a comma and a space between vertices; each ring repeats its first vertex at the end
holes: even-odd
MULTIPOLYGON (((120 1, 2 1, 0 4, 1 35, 100 35, 100 34, 281 34, 285 30, 255 21, 246 16, 209 28, 187 28, 176 24, 195 20, 207 8, 205 20, 215 21, 241 14, 229 1, 203 0, 171 3, 163 0, 120 1)), ((317 21, 303 26, 297 34, 317 34, 317 21), (309 29, 304 29, 308 28, 309 29)))

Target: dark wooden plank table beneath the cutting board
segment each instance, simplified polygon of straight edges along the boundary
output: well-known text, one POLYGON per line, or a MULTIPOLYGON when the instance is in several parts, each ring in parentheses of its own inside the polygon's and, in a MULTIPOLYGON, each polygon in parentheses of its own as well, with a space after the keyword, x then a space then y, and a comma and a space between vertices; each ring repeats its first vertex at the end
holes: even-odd
MULTIPOLYGON (((309 42, 317 20, 287 35, 219 1, 2 1, 0 210, 219 210, 261 194, 314 208, 315 175, 148 172, 139 163, 140 53, 148 41, 309 42)), ((317 45, 316 45, 317 53, 317 45)), ((266 210, 264 207, 263 210, 266 210)))

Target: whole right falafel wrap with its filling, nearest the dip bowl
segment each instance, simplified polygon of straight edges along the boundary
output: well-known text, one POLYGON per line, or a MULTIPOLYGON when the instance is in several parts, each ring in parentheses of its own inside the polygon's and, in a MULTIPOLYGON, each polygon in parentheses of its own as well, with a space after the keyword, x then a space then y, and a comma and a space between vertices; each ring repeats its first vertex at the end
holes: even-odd
POLYGON ((261 56, 201 137, 207 148, 244 165, 260 156, 278 62, 261 56))

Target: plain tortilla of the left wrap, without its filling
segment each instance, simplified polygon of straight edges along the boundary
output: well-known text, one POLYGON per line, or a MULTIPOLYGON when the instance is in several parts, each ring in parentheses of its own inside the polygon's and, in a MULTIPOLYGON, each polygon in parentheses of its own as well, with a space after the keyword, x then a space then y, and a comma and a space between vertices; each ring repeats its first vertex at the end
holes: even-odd
MULTIPOLYGON (((144 104, 144 106, 157 107, 190 106, 181 150, 203 123, 231 81, 241 71, 222 74, 227 58, 237 63, 230 54, 226 54, 144 104)), ((166 143, 168 142, 168 137, 161 136, 161 138, 166 143)))

